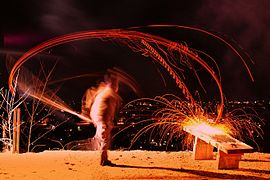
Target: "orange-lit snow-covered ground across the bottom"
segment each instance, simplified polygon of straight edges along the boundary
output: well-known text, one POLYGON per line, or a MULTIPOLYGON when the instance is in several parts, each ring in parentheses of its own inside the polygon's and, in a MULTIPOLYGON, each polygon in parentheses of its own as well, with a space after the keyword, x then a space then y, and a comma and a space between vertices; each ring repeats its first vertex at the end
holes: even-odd
POLYGON ((114 167, 100 166, 98 151, 0 153, 0 179, 270 179, 270 154, 245 154, 237 170, 217 170, 216 160, 192 152, 110 151, 114 167))

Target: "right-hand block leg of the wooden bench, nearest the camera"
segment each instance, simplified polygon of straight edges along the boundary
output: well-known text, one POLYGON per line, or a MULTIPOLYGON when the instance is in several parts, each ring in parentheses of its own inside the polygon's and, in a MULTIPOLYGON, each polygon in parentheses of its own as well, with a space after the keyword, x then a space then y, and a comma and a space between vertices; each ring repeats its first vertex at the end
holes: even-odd
POLYGON ((218 169, 238 169, 242 154, 226 154, 218 151, 218 169))

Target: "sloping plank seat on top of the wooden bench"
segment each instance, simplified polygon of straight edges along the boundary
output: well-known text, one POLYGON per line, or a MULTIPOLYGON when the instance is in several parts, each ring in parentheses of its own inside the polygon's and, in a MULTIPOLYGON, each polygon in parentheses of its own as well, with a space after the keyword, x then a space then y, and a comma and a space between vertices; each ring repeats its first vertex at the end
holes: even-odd
POLYGON ((205 132, 194 130, 192 126, 186 126, 183 128, 184 131, 200 138, 208 144, 216 147, 226 154, 241 154, 253 152, 253 148, 229 135, 226 134, 207 134, 205 132))

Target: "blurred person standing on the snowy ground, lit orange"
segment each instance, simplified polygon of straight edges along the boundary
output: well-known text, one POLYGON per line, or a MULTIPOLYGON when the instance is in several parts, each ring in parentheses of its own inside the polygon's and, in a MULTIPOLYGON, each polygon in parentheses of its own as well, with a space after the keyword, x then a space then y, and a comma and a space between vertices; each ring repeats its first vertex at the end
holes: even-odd
POLYGON ((97 88, 89 88, 82 101, 82 114, 89 114, 96 126, 95 139, 101 151, 100 165, 113 165, 108 160, 108 149, 111 142, 111 130, 115 113, 119 110, 120 96, 118 93, 118 80, 110 74, 104 76, 97 88))

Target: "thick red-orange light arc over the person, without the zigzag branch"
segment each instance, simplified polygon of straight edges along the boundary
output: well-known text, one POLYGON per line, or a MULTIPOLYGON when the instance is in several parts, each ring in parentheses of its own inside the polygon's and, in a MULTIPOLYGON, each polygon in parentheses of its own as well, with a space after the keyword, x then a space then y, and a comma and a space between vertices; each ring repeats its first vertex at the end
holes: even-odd
MULTIPOLYGON (((57 46, 60 44, 83 40, 83 39, 92 39, 92 38, 99 38, 99 39, 100 38, 104 38, 104 39, 117 38, 117 40, 124 39, 127 41, 131 41, 134 44, 136 44, 136 43, 139 44, 139 43, 141 43, 141 40, 144 40, 145 42, 157 43, 157 44, 161 44, 165 47, 170 47, 172 44, 175 44, 175 42, 169 41, 169 40, 162 38, 162 37, 159 37, 159 36, 154 36, 154 35, 141 33, 141 32, 137 32, 137 31, 121 30, 121 29, 85 31, 85 32, 76 32, 76 33, 63 35, 63 36, 56 37, 56 38, 50 39, 48 41, 45 41, 38 46, 35 46, 34 48, 27 51, 21 58, 19 58, 19 60, 15 63, 15 65, 13 66, 13 68, 10 72, 10 76, 9 76, 9 80, 8 80, 10 91, 12 93, 14 93, 14 87, 13 87, 12 81, 13 81, 13 77, 14 77, 15 73, 18 71, 20 66, 22 66, 31 57, 35 56, 36 54, 38 54, 42 51, 45 51, 51 47, 54 47, 54 46, 57 46)), ((206 62, 204 62, 199 57, 196 57, 196 55, 192 51, 188 50, 188 48, 186 46, 180 45, 180 44, 178 44, 178 45, 179 45, 178 48, 173 46, 173 47, 171 47, 171 49, 174 49, 175 51, 180 51, 179 53, 185 54, 186 56, 195 60, 196 62, 198 62, 199 64, 201 64, 205 68, 209 67, 206 62)), ((223 92, 221 90, 221 85, 218 81, 218 78, 216 78, 214 71, 210 67, 206 68, 206 69, 213 76, 215 81, 218 82, 217 84, 218 84, 218 87, 220 90, 220 95, 221 95, 220 96, 221 104, 220 104, 220 109, 219 109, 218 114, 222 114, 224 100, 223 100, 223 92)), ((178 78, 178 81, 181 81, 181 79, 178 78)), ((220 117, 221 116, 218 116, 216 120, 220 119, 220 117)))

